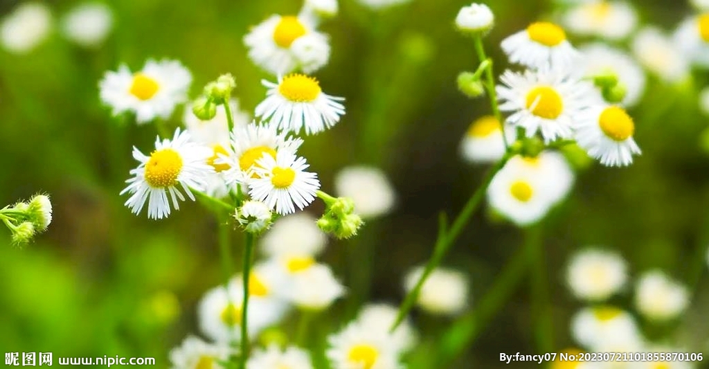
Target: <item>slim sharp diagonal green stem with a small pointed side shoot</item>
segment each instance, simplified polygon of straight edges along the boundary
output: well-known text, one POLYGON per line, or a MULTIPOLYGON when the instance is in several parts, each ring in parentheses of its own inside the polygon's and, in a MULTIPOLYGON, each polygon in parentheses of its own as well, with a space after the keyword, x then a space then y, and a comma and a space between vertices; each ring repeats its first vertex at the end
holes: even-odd
POLYGON ((438 238, 433 248, 433 255, 430 259, 428 259, 428 263, 426 264, 423 273, 421 273, 421 276, 418 278, 418 282, 416 283, 414 288, 412 288, 408 292, 403 302, 401 303, 398 315, 394 323, 391 325, 390 331, 394 331, 396 327, 401 324, 408 312, 411 311, 411 308, 413 307, 414 303, 416 302, 416 300, 418 300, 418 295, 421 292, 421 288, 423 288, 423 283, 425 282, 426 278, 428 278, 430 273, 435 268, 437 268, 437 266, 440 265, 441 261, 445 257, 445 254, 447 254, 448 249, 450 249, 450 246, 458 239, 458 237, 460 236, 460 232, 462 232, 463 230, 463 227, 468 224, 470 217, 474 214, 475 210, 482 202, 487 188, 490 186, 492 178, 495 176, 495 174, 497 174, 498 171, 500 171, 500 169, 502 169, 503 166, 505 166, 510 157, 512 157, 511 153, 505 154, 505 156, 500 159, 500 161, 498 161, 497 164, 495 164, 495 166, 493 166, 488 171, 483 180, 483 183, 470 196, 463 210, 459 212, 458 216, 453 221, 453 225, 450 227, 450 231, 447 231, 445 229, 445 219, 443 219, 442 217, 442 220, 439 225, 438 238))

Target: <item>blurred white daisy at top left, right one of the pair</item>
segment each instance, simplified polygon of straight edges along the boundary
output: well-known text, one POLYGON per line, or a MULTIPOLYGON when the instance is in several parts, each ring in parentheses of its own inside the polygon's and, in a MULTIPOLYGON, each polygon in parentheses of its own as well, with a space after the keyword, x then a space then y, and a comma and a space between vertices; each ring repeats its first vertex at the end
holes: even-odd
POLYGON ((87 2, 75 6, 64 16, 62 31, 66 38, 83 47, 101 45, 113 27, 111 8, 101 3, 87 2))

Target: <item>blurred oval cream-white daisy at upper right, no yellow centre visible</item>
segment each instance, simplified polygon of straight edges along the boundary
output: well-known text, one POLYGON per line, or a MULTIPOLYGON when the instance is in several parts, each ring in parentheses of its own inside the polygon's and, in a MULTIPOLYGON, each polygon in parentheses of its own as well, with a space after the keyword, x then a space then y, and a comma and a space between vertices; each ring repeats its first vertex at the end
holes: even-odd
POLYGON ((683 52, 661 30, 646 27, 632 40, 632 53, 640 64, 669 83, 678 83, 689 76, 689 61, 683 52))

